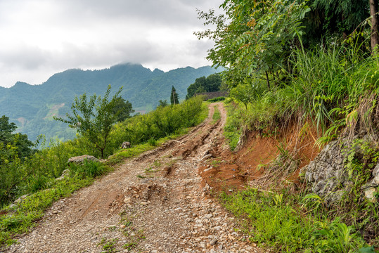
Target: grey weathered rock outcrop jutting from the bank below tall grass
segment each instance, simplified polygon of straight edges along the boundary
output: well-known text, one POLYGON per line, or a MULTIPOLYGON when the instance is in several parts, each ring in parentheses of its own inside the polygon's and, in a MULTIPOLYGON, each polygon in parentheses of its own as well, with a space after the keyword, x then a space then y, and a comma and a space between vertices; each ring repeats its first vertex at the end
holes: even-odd
MULTIPOLYGON (((361 143, 367 143, 368 137, 355 136, 353 140, 345 138, 342 141, 330 142, 300 172, 304 175, 304 180, 311 191, 323 197, 327 206, 341 200, 342 196, 349 193, 354 186, 354 176, 352 176, 354 171, 347 166, 347 163, 349 160, 359 161, 364 157, 365 151, 361 143)), ((362 187, 364 195, 371 201, 374 200, 376 187, 379 186, 379 164, 372 174, 373 179, 362 187)))

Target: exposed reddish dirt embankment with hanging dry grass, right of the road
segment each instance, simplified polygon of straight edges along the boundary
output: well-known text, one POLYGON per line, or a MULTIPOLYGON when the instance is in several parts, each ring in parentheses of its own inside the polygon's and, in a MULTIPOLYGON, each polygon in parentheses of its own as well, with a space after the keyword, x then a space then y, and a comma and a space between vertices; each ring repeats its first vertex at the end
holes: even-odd
POLYGON ((275 136, 262 137, 262 133, 245 131, 240 140, 243 145, 236 152, 225 148, 225 140, 220 137, 210 150, 214 158, 199 168, 203 186, 210 186, 213 193, 249 185, 272 187, 282 181, 293 183, 297 188, 300 169, 319 153, 314 136, 316 133, 312 129, 297 129, 296 126, 287 126, 275 136), (280 167, 289 162, 293 163, 293 169, 280 171, 280 167), (269 171, 268 165, 278 169, 269 171))

